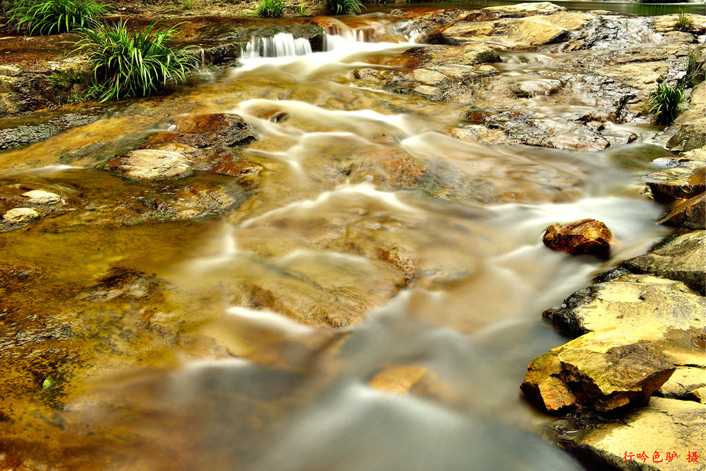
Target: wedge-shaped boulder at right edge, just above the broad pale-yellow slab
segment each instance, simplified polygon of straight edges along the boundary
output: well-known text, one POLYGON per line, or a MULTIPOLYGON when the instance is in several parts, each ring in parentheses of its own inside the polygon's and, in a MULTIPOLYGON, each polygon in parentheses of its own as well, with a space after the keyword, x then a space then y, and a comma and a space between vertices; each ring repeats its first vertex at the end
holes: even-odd
POLYGON ((633 273, 652 273, 678 280, 706 294, 706 231, 686 232, 668 239, 659 249, 630 258, 622 267, 633 273))

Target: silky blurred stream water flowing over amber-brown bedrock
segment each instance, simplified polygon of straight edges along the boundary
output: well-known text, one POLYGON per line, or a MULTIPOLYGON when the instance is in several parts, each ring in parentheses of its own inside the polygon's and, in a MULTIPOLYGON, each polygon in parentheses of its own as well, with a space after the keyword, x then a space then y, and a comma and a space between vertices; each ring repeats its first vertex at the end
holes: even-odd
MULTIPOLYGON (((23 274, 0 304, 3 469, 580 469, 537 434, 551 418, 518 386, 566 341, 542 311, 665 234, 637 196, 664 153, 646 142, 656 130, 623 126, 638 140, 602 153, 460 141, 467 105, 350 76, 414 32, 365 42, 334 23, 328 52, 253 47, 205 83, 0 154, 5 188, 67 200, 0 234, 2 263, 23 274), (94 168, 203 112, 253 126, 239 152, 263 166, 257 184, 94 168), (434 178, 400 188, 365 166, 394 170, 395 155, 434 178), (205 217, 139 210, 215 190, 227 210, 205 217), (542 245, 548 225, 583 217, 620 241, 612 261, 542 245), (411 393, 374 388, 384 371, 411 393)), ((542 66, 509 52, 498 64, 519 78, 542 66)))

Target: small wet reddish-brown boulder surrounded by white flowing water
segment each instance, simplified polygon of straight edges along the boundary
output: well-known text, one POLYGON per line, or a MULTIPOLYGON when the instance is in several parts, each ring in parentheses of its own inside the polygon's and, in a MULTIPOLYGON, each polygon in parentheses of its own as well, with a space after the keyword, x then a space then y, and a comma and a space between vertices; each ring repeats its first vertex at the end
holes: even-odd
POLYGON ((549 249, 571 255, 589 254, 609 258, 611 239, 613 234, 603 222, 585 219, 547 227, 542 242, 549 249))

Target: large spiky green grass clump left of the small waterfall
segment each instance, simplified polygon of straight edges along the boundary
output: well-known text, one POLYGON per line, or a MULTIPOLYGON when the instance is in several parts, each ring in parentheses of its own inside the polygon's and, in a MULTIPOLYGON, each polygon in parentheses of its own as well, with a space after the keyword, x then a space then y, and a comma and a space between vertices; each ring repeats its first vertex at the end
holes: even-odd
POLYGON ((152 23, 128 31, 126 23, 80 30, 74 52, 88 56, 93 64, 95 97, 100 101, 148 96, 167 82, 183 82, 196 68, 196 54, 189 49, 172 49, 177 25, 165 29, 152 23))

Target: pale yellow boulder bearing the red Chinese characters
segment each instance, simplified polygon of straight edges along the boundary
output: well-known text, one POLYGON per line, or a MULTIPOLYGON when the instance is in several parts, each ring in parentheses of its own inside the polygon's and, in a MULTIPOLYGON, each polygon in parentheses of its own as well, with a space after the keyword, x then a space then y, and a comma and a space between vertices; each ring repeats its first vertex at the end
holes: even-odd
POLYGON ((554 422, 550 431, 591 469, 703 470, 706 405, 652 398, 621 417, 581 414, 554 422), (693 453, 698 463, 688 460, 693 453))

